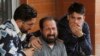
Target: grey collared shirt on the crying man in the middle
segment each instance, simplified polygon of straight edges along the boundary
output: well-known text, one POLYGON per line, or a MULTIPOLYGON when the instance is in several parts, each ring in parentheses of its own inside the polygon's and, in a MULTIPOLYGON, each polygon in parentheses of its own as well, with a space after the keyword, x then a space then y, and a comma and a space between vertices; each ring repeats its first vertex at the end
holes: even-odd
POLYGON ((33 56, 67 56, 65 46, 62 42, 56 41, 53 48, 41 38, 42 48, 35 51, 33 56))

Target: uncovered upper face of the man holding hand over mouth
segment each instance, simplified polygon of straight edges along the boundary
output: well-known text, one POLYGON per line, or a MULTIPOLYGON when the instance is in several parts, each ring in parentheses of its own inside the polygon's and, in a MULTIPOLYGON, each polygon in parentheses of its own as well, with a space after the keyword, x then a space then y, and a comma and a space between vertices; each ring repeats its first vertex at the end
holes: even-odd
POLYGON ((80 27, 82 27, 84 19, 85 19, 84 14, 79 14, 74 12, 73 14, 68 15, 69 24, 73 23, 80 27))

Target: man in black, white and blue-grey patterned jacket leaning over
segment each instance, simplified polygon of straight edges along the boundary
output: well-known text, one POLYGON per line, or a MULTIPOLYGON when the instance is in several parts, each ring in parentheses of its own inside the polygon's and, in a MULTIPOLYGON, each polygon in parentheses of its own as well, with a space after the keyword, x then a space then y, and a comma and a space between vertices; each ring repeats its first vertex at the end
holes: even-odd
POLYGON ((23 50, 21 39, 35 23, 36 16, 36 10, 22 4, 15 10, 14 19, 0 25, 0 56, 32 56, 34 48, 23 50))

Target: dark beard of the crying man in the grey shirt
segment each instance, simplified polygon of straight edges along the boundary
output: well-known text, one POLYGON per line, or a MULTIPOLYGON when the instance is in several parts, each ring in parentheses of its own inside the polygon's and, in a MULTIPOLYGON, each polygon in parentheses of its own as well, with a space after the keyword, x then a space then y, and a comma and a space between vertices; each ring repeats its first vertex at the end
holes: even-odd
POLYGON ((58 39, 55 34, 53 34, 53 35, 49 34, 49 35, 47 35, 47 37, 42 35, 42 38, 47 44, 55 43, 56 40, 58 39))

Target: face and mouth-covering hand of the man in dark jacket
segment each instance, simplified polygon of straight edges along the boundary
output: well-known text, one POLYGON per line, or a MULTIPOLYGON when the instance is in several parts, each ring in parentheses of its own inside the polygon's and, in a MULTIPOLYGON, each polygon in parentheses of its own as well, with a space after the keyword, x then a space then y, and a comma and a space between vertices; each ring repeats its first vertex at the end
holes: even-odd
POLYGON ((85 20, 84 14, 79 14, 74 12, 68 15, 68 20, 69 20, 69 26, 72 33, 78 37, 83 36, 82 25, 85 20))

